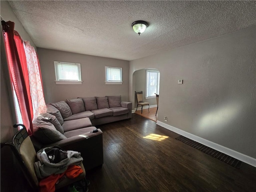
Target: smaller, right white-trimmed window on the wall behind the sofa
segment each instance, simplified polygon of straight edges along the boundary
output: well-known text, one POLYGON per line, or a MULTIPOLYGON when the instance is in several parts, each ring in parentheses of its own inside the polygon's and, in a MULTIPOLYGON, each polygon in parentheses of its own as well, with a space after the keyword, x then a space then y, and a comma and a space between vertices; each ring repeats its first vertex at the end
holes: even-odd
POLYGON ((108 84, 122 84, 122 68, 121 67, 107 67, 105 66, 106 85, 108 84))

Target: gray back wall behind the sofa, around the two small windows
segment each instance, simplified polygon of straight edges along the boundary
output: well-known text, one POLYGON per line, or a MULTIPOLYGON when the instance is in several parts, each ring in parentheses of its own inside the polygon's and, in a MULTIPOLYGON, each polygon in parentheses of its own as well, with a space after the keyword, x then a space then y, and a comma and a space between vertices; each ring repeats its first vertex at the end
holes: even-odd
POLYGON ((38 48, 46 103, 77 97, 121 95, 129 100, 129 62, 38 48), (56 85, 54 61, 81 63, 82 85, 56 85), (122 85, 105 84, 105 66, 122 67, 122 85))

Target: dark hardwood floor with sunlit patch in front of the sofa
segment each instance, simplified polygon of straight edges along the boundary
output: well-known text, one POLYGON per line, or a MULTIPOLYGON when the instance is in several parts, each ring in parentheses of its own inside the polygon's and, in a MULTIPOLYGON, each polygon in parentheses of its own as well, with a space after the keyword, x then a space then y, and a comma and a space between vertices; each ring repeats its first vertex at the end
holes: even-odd
POLYGON ((234 168, 137 114, 97 128, 103 131, 104 164, 86 172, 89 192, 256 191, 256 168, 234 168))

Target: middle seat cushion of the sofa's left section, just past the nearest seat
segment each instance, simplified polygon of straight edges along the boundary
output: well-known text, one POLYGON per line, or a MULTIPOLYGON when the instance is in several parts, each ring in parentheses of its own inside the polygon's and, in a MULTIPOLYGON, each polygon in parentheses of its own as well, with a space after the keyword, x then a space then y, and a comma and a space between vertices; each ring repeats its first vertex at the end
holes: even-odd
POLYGON ((80 128, 85 128, 85 127, 90 127, 90 126, 92 126, 92 122, 90 121, 90 119, 88 117, 64 121, 64 123, 62 125, 64 132, 67 132, 70 130, 75 130, 75 129, 80 129, 80 128))

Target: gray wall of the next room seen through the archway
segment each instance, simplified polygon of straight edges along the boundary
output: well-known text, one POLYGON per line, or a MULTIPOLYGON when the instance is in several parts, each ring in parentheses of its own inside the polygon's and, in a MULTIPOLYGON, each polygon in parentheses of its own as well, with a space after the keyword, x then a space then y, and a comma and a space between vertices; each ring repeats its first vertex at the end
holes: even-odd
MULTIPOLYGON (((156 70, 156 69, 154 69, 154 70, 156 70)), ((146 96, 146 69, 141 69, 141 70, 135 71, 133 76, 134 76, 134 80, 135 80, 134 90, 142 91, 143 97, 144 97, 143 100, 145 102, 148 102, 150 106, 156 105, 156 98, 145 99, 145 96, 146 96)), ((136 110, 137 100, 136 100, 135 94, 134 94, 134 98, 135 98, 134 108, 136 110)), ((138 106, 138 107, 140 107, 140 106, 138 106)))

